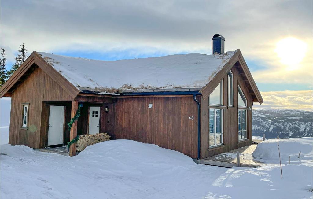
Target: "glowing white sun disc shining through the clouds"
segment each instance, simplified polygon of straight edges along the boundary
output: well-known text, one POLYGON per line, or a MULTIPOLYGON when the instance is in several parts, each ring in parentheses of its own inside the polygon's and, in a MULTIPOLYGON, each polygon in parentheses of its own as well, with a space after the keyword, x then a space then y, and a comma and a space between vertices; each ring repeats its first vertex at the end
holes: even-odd
POLYGON ((307 44, 297 38, 287 37, 277 42, 275 52, 282 64, 297 69, 306 53, 307 44))

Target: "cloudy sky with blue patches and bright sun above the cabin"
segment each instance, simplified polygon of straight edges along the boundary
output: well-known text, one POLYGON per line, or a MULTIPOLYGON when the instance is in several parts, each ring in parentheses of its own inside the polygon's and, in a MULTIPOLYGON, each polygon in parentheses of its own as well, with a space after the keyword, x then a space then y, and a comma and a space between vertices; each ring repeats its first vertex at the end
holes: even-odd
POLYGON ((9 1, 0 5, 7 68, 32 51, 117 60, 240 49, 264 103, 312 110, 312 1, 9 1))

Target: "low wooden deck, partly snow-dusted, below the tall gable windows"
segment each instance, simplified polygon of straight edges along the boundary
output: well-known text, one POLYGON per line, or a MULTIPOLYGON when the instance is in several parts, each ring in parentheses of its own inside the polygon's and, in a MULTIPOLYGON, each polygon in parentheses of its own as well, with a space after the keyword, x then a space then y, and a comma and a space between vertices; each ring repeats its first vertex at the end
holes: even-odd
MULTIPOLYGON (((260 142, 260 140, 257 141, 258 143, 260 142)), ((231 168, 233 166, 237 166, 236 152, 239 151, 241 167, 259 167, 266 165, 263 162, 253 160, 252 153, 256 149, 256 146, 256 144, 244 146, 226 153, 221 153, 212 157, 204 158, 200 160, 200 164, 224 166, 231 168)))

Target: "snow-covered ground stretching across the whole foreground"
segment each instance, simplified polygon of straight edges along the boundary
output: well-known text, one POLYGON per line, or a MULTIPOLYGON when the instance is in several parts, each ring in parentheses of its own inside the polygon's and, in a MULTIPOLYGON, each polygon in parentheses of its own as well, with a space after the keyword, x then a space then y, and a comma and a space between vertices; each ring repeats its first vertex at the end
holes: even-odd
MULTIPOLYGON (((299 140, 292 147, 302 146, 299 140)), ((312 157, 308 147, 301 150, 312 157)), ((197 165, 177 151, 131 140, 91 145, 74 157, 1 145, 2 199, 312 198, 312 165, 285 165, 283 175, 276 165, 197 165)))

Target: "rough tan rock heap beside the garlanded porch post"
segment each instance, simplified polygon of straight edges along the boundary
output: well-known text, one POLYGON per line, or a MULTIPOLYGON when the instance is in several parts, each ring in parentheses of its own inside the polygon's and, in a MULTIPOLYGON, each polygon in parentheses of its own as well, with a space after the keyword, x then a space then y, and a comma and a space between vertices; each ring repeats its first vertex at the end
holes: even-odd
POLYGON ((108 140, 110 140, 110 135, 107 133, 80 135, 79 140, 76 142, 76 151, 83 151, 86 146, 108 140))

